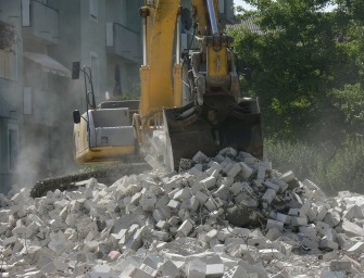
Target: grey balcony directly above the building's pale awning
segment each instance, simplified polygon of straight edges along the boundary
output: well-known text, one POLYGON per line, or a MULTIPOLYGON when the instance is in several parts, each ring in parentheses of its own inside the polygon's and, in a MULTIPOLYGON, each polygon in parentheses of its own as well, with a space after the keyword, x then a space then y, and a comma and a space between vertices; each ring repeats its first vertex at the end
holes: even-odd
POLYGON ((23 33, 45 40, 59 41, 59 12, 37 0, 22 0, 23 33))

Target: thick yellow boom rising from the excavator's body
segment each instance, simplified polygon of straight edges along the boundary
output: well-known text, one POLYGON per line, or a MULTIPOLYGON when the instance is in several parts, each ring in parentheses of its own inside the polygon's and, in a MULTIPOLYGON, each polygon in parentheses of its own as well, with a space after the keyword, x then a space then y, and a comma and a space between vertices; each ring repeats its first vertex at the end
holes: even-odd
POLYGON ((155 8, 149 7, 147 17, 147 65, 140 67, 141 97, 139 113, 148 117, 162 108, 181 104, 181 67, 174 66, 172 85, 174 40, 180 1, 159 0, 155 8), (180 67, 180 68, 179 68, 180 67))

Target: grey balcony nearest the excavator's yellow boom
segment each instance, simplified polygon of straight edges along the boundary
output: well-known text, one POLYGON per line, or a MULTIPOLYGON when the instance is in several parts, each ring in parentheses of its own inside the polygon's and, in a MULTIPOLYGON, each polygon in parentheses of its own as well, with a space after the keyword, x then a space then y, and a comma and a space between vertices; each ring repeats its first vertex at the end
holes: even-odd
POLYGON ((106 50, 138 64, 142 61, 140 34, 118 23, 106 23, 106 50))

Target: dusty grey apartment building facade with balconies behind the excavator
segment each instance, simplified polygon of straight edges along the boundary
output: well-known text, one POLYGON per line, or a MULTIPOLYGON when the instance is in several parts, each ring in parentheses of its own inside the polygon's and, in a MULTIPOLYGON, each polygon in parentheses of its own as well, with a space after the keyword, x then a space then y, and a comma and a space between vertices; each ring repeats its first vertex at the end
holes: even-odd
MULTIPOLYGON (((71 78, 72 62, 91 68, 97 103, 138 96, 142 4, 0 0, 0 23, 16 35, 11 51, 0 49, 0 192, 77 170, 72 112, 85 111, 86 92, 83 75, 71 78)), ((190 9, 190 1, 181 4, 190 9)), ((219 0, 219 9, 223 21, 233 21, 233 0, 219 0)), ((191 35, 187 28, 183 48, 191 35)))

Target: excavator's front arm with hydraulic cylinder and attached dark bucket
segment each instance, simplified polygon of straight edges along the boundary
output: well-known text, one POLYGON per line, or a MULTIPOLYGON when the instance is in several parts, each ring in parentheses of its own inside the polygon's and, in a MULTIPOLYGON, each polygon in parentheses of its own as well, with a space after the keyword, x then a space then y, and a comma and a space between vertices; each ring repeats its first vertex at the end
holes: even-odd
POLYGON ((192 0, 199 51, 190 53, 190 93, 193 102, 164 109, 167 162, 176 168, 181 157, 197 151, 214 155, 233 147, 263 157, 258 100, 240 98, 239 78, 229 50, 231 38, 218 25, 216 0, 192 0))

